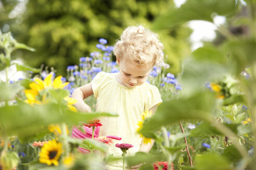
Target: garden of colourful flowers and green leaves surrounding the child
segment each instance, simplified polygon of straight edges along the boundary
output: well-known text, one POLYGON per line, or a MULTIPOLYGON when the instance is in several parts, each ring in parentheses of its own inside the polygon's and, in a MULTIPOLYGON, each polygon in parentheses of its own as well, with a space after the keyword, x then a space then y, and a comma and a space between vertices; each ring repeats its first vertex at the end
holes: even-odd
POLYGON ((226 17, 218 26, 221 40, 191 52, 182 72, 169 73, 172 65, 167 63, 153 67, 147 81, 159 89, 163 103, 152 116, 141 113, 137 134, 155 144, 149 153, 127 157, 133 144, 119 136, 99 136, 104 128, 100 117, 118 114, 96 112, 94 96, 84 101, 92 112, 78 111, 71 98, 97 73, 119 72, 108 39, 98 38, 96 50, 64 68, 67 76, 62 77, 54 68, 14 62, 14 51, 36 49, 11 32, 0 32, 0 70, 5 72, 5 81, 0 80, 0 169, 98 170, 117 160, 147 170, 255 169, 255 11, 253 0, 187 0, 153 21, 150 29, 166 31, 191 20, 226 17), (25 78, 10 80, 10 66, 25 78), (120 157, 105 154, 111 145, 120 148, 120 157))

